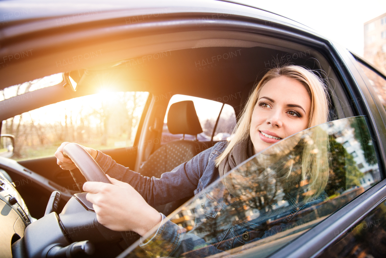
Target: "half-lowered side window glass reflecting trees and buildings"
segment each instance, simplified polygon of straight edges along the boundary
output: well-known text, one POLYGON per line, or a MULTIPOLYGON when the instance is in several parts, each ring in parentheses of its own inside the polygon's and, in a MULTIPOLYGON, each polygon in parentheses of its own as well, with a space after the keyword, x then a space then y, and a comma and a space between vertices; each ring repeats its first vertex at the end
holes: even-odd
POLYGON ((380 179, 364 116, 314 126, 232 169, 120 257, 265 257, 380 179))

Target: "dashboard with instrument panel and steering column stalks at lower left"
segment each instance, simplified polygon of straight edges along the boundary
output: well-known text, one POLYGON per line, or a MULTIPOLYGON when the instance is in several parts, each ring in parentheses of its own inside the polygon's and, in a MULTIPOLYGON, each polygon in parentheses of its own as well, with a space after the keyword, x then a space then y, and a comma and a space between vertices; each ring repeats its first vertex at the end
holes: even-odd
MULTIPOLYGON (((53 182, 11 159, 0 157, 0 165, 22 178, 14 181, 6 170, 0 168, 0 257, 90 257, 95 253, 92 257, 105 258, 115 257, 122 252, 122 248, 127 248, 127 237, 98 223, 92 204, 85 199, 85 193, 76 193, 73 196, 67 192, 59 194, 56 187, 51 185, 53 182), (29 177, 25 177, 25 174, 29 177), (26 183, 36 183, 46 188, 48 186, 54 190, 52 194, 63 196, 66 205, 61 213, 46 210, 42 218, 33 218, 16 190, 17 186, 26 183), (98 243, 97 248, 101 246, 108 253, 95 252, 93 243, 98 243), (71 255, 66 256, 67 253, 71 255)), ((58 202, 59 198, 54 202, 49 201, 47 207, 51 204, 57 208, 58 202)))

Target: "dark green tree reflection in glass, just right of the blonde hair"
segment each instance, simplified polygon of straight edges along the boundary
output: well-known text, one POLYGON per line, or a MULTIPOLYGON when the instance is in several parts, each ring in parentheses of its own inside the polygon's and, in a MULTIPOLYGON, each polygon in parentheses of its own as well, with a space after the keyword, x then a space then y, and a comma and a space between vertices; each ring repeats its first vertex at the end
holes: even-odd
POLYGON ((328 177, 326 193, 328 196, 336 195, 354 186, 360 186, 359 179, 363 174, 356 166, 356 162, 342 144, 334 137, 330 137, 331 168, 328 177))

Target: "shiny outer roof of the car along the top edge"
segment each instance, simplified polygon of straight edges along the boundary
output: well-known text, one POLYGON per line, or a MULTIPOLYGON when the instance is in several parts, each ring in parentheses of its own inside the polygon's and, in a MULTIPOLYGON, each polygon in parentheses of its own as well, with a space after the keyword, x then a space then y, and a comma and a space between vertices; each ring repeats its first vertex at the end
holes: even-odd
MULTIPOLYGON (((164 10, 170 13, 206 12, 212 14, 238 14, 248 17, 256 17, 267 21, 281 23, 286 26, 301 29, 318 35, 316 31, 299 22, 288 19, 274 12, 229 0, 3 0, 0 1, 0 17, 3 28, 12 24, 28 23, 36 20, 68 15, 83 14, 79 21, 91 21, 95 14, 102 18, 108 13, 117 12, 126 15, 146 15, 152 10, 164 10), (103 15, 104 14, 104 15, 103 15), (5 22, 5 23, 4 23, 5 22)), ((162 15, 162 14, 161 14, 162 15)), ((74 18, 74 16, 72 16, 74 18)), ((75 17, 76 19, 76 17, 75 17)), ((2 37, 5 35, 2 35, 2 37)), ((320 35, 318 35, 320 36, 320 35)))

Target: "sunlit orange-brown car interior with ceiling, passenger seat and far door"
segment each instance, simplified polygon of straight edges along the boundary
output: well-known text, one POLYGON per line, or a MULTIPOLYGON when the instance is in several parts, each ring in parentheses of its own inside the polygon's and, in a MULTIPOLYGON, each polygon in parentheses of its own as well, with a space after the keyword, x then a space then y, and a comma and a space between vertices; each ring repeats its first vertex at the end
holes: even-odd
MULTIPOLYGON (((66 99, 94 94, 106 85, 117 92, 149 92, 134 146, 102 152, 144 176, 159 178, 162 173, 189 161, 218 141, 213 140, 213 134, 211 140, 197 140, 197 135, 203 132, 203 125, 198 120, 192 101, 174 103, 166 113, 170 98, 156 99, 155 96, 165 96, 171 92, 171 96, 181 94, 208 100, 221 99, 220 103, 232 106, 238 118, 253 86, 269 68, 294 64, 317 71, 328 86, 330 121, 357 115, 347 99, 345 84, 334 72, 336 64, 322 49, 301 43, 246 32, 193 31, 139 35, 111 41, 106 39, 98 45, 87 44, 90 43, 83 42, 76 48, 66 46, 61 51, 47 50, 46 55, 41 57, 42 66, 39 69, 28 68, 28 63, 21 64, 20 69, 26 72, 14 81, 6 82, 15 85, 54 74, 61 68, 59 72, 64 72, 64 76, 71 75, 77 82, 76 91, 71 89, 67 80, 31 91, 29 98, 22 102, 9 103, 9 108, 1 114, 0 119, 5 120, 66 99), (52 65, 52 60, 71 56, 68 53, 71 49, 85 53, 101 50, 102 55, 81 65, 75 64, 71 72, 68 67, 52 65), (240 94, 236 96, 237 92, 240 94), (236 97, 229 97, 225 101, 223 96, 236 97), (192 135, 195 139, 156 141, 162 138, 165 116, 171 134, 192 135)), ((59 214, 71 196, 80 192, 80 188, 74 185, 81 185, 85 181, 78 173, 75 182, 69 171, 63 171, 56 164, 54 156, 18 161, 17 164, 15 162, 0 168, 13 181, 28 181, 30 177, 34 179, 30 183, 20 184, 16 189, 29 208, 30 215, 36 219, 43 217, 52 191, 61 191, 59 214), (18 167, 18 164, 23 167, 18 167)), ((188 199, 156 208, 169 215, 188 199)), ((121 244, 117 253, 123 249, 121 244)))

